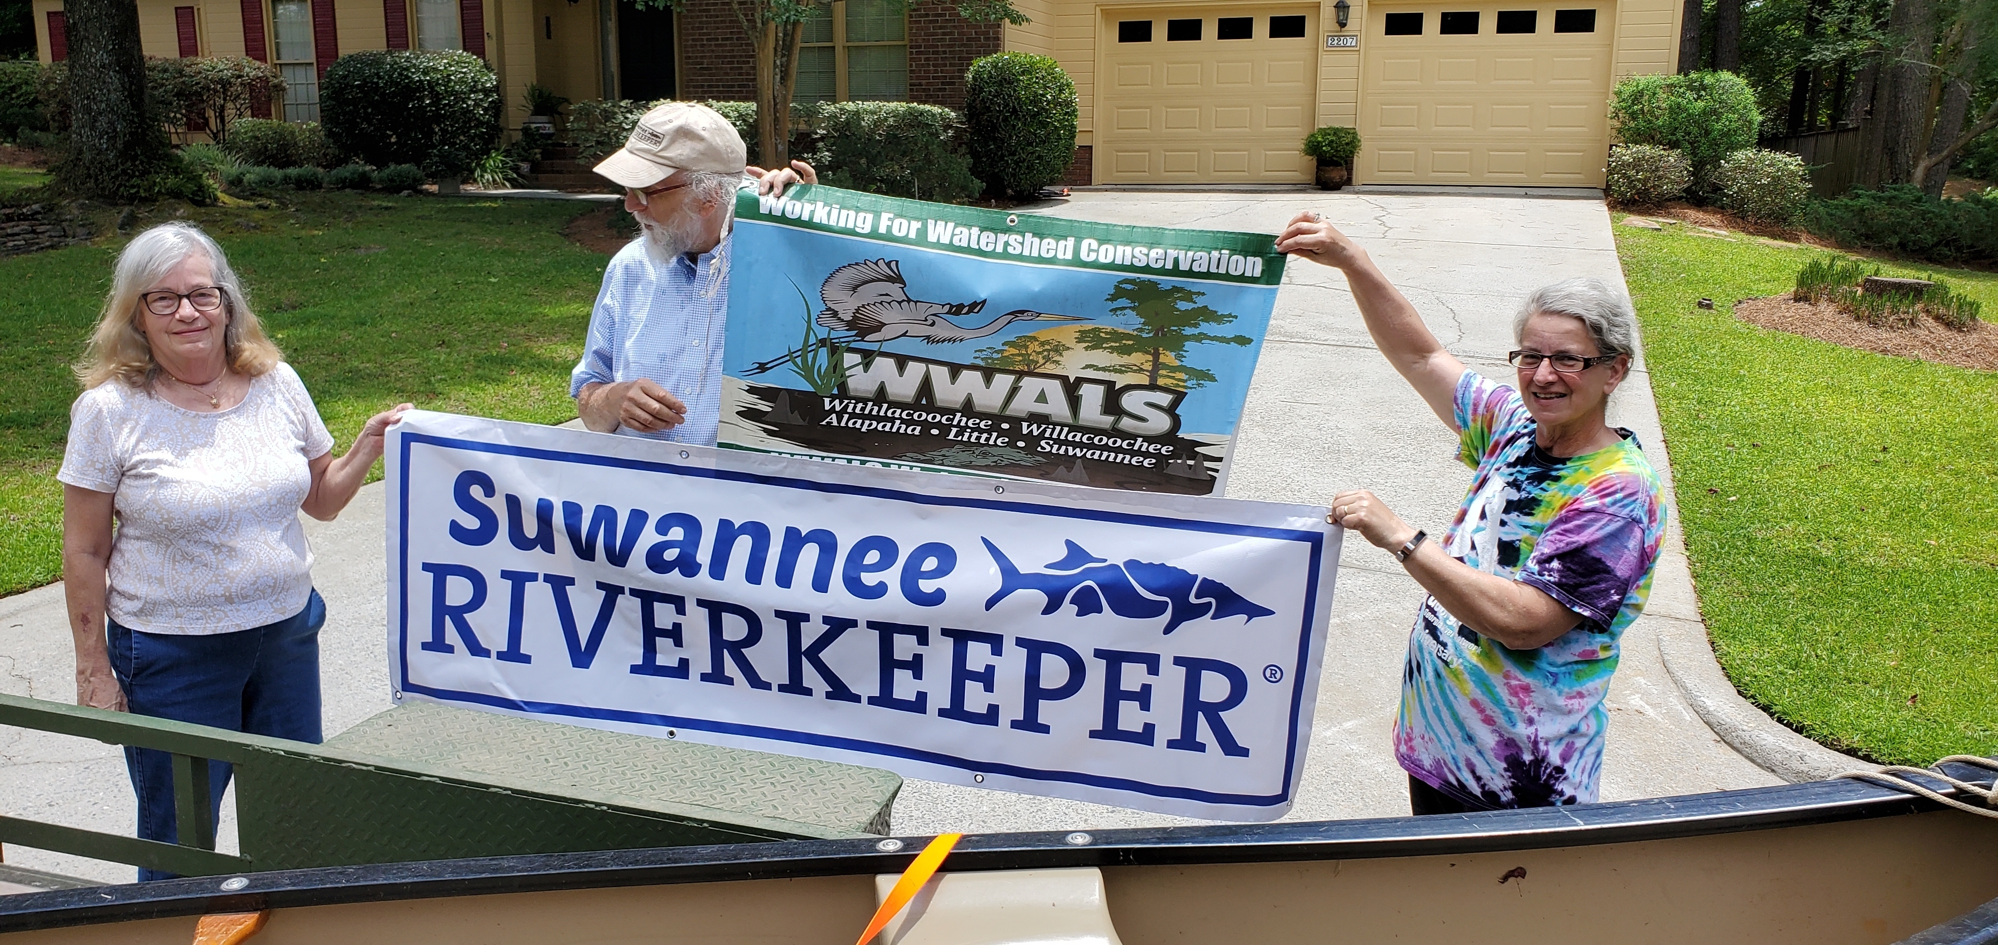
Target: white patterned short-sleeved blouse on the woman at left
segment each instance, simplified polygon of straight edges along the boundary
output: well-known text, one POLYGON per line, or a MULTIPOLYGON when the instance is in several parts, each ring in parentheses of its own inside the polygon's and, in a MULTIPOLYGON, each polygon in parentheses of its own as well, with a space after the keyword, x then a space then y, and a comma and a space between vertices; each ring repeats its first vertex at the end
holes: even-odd
POLYGON ((308 464, 334 448, 288 364, 214 414, 106 382, 70 406, 56 479, 116 495, 106 607, 146 633, 232 633, 286 619, 312 595, 298 509, 308 464))

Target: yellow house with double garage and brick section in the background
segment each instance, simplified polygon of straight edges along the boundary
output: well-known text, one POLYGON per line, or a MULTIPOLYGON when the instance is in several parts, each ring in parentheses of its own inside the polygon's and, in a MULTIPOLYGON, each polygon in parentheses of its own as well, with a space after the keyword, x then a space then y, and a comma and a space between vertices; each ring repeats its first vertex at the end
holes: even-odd
MULTIPOLYGON (((316 116, 314 80, 342 52, 466 48, 500 72, 509 122, 541 82, 581 98, 751 98, 753 50, 729 0, 679 14, 631 0, 138 0, 152 56, 248 54, 316 116)), ((1053 56, 1075 78, 1071 184, 1311 180, 1317 126, 1359 128, 1355 180, 1600 188, 1606 102, 1624 76, 1672 72, 1678 0, 1015 0, 1027 26, 971 24, 955 4, 821 4, 799 98, 963 104, 971 60, 1053 56)), ((60 0, 34 0, 42 58, 60 0)))

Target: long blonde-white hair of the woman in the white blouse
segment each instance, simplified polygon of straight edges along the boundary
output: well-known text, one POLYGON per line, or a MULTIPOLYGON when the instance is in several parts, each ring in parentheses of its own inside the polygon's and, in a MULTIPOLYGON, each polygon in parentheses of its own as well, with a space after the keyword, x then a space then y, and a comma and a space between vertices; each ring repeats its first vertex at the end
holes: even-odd
POLYGON ((146 308, 140 294, 194 256, 208 260, 208 276, 222 290, 222 312, 230 320, 222 330, 222 344, 230 370, 256 378, 284 362, 284 354, 264 336, 264 326, 250 312, 242 282, 222 246, 198 226, 176 220, 134 236, 118 254, 112 292, 104 298, 104 312, 98 314, 98 328, 90 334, 84 360, 76 364, 76 380, 84 382, 86 390, 112 378, 134 388, 152 384, 160 364, 152 360, 152 342, 146 340, 146 308))

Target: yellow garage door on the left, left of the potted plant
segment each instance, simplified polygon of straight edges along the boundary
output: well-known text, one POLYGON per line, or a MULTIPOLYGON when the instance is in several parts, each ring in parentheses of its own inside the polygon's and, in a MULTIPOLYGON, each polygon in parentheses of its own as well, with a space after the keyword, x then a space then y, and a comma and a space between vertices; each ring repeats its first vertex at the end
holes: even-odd
POLYGON ((1311 180, 1319 8, 1107 10, 1097 184, 1311 180))

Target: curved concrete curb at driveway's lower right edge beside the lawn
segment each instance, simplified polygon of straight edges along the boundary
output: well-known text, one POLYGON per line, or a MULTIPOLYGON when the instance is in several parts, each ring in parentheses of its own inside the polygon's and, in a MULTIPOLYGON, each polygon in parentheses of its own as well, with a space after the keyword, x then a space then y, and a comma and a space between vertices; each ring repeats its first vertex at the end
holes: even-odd
POLYGON ((1878 771, 1880 765, 1842 755, 1790 731, 1734 691, 1734 683, 1714 659, 1706 625, 1680 617, 1658 617, 1658 655, 1664 671, 1692 705, 1692 711, 1748 761, 1790 783, 1822 781, 1848 771, 1878 771))

